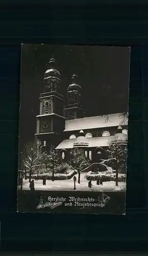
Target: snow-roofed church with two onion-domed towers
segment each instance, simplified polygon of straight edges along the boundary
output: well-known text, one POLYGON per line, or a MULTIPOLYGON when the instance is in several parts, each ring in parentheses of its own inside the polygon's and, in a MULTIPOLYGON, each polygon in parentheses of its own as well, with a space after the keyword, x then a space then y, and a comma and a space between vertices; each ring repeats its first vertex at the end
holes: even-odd
POLYGON ((54 58, 44 75, 44 92, 40 94, 40 111, 37 118, 36 141, 46 151, 57 150, 63 161, 68 161, 74 148, 83 148, 89 160, 98 162, 114 136, 127 141, 128 118, 122 113, 84 117, 81 105, 81 85, 78 76, 72 75, 67 85, 67 104, 61 90, 61 75, 54 58), (108 118, 107 118, 107 117, 108 118))

